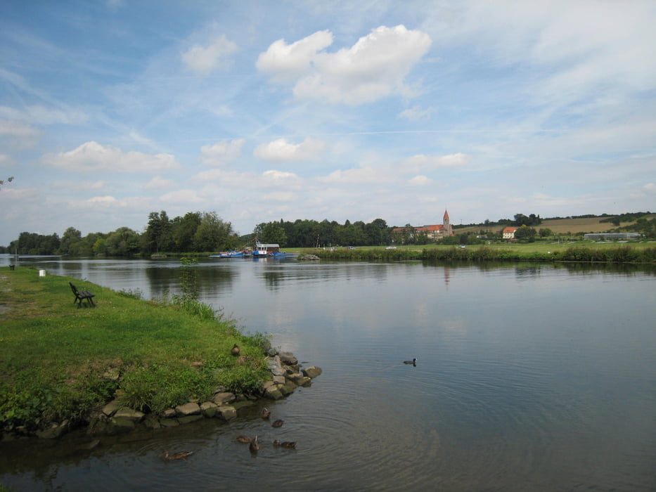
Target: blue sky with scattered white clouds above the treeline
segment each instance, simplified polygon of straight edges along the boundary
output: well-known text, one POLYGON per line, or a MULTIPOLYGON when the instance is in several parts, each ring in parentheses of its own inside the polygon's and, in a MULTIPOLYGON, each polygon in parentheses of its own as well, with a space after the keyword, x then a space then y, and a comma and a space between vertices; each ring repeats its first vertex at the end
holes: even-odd
POLYGON ((656 1, 0 2, 0 245, 656 209, 656 1))

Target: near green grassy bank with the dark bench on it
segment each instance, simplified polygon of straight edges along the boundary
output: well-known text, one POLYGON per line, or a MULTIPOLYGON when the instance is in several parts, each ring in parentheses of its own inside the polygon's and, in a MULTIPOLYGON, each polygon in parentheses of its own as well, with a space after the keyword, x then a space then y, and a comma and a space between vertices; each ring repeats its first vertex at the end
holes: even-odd
POLYGON ((143 301, 20 266, 0 268, 0 290, 0 430, 85 420, 115 396, 158 413, 218 385, 257 391, 267 375, 265 337, 193 299, 143 301), (69 281, 98 306, 78 309, 69 281), (252 358, 237 363, 233 344, 252 358))

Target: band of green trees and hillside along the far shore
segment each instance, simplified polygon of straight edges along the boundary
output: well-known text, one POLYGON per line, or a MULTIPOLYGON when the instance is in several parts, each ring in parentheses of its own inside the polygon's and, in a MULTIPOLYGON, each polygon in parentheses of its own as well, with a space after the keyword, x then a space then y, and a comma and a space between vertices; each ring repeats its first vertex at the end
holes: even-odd
MULTIPOLYGON (((515 237, 524 242, 567 242, 579 240, 584 233, 635 232, 643 238, 656 238, 656 214, 636 212, 611 216, 577 216, 542 219, 536 214, 515 214, 513 219, 486 220, 481 224, 455 225, 454 235, 439 239, 439 244, 477 244, 503 240, 501 230, 506 226, 520 229, 515 237)), ((394 229, 383 219, 371 222, 323 221, 297 219, 295 221, 271 221, 257 224, 252 233, 238 235, 230 222, 216 212, 188 212, 184 216, 169 219, 167 213, 150 212, 143 233, 127 227, 110 233, 82 233, 74 227, 67 228, 61 238, 57 234, 41 235, 20 233, 8 247, 0 247, 0 253, 59 254, 72 257, 150 257, 150 255, 194 254, 207 256, 213 252, 241 250, 252 247, 255 239, 274 242, 285 248, 356 246, 375 247, 387 245, 434 245, 435 239, 427 233, 414 231, 406 224, 394 229)))

